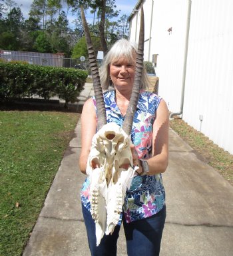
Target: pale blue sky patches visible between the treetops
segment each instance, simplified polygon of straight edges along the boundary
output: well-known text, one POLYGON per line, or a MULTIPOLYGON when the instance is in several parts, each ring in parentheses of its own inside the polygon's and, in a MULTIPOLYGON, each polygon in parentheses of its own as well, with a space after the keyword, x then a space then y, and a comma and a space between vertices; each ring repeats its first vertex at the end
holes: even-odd
MULTIPOLYGON (((16 1, 21 8, 21 11, 23 13, 23 17, 25 17, 25 19, 28 19, 28 13, 31 9, 31 3, 33 3, 33 0, 20 0, 20 1, 16 1)), ((120 16, 126 14, 126 15, 130 15, 130 13, 132 12, 132 9, 134 9, 136 3, 138 2, 138 0, 116 0, 115 5, 116 8, 119 10, 120 9, 120 16)), ((70 21, 70 23, 72 22, 73 19, 75 19, 75 16, 71 17, 71 14, 68 15, 68 19, 70 21)), ((89 23, 91 23, 91 21, 89 20, 89 17, 87 17, 87 21, 89 23)))

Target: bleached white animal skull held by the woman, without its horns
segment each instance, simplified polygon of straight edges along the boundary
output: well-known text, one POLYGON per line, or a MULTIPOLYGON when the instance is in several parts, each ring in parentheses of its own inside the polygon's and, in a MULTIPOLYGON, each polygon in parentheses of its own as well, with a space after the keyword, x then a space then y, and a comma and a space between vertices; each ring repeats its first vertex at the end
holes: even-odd
POLYGON ((113 233, 136 168, 132 167, 128 135, 115 123, 105 124, 93 137, 87 162, 97 245, 105 233, 113 233))

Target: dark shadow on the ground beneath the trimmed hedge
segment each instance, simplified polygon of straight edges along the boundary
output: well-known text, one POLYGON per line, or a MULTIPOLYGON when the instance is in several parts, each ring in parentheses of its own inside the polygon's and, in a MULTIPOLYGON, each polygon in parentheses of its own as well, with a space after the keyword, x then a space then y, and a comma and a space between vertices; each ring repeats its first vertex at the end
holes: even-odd
POLYGON ((75 112, 81 113, 83 104, 65 104, 59 100, 23 99, 0 102, 0 110, 3 111, 56 111, 56 112, 75 112))

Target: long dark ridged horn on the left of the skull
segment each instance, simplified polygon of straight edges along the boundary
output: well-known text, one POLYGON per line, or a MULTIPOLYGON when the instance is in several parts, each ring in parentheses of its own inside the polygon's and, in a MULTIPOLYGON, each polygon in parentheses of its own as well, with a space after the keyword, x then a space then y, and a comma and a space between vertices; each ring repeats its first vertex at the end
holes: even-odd
POLYGON ((83 11, 83 6, 81 6, 81 16, 83 21, 83 29, 85 32, 87 51, 89 55, 89 63, 91 68, 91 75, 93 77, 93 87, 95 92, 95 99, 97 101, 97 127, 100 130, 105 124, 107 124, 106 112, 105 112, 105 102, 103 97, 103 91, 101 88, 101 80, 99 77, 99 68, 97 65, 97 58, 95 56, 95 51, 93 49, 93 44, 91 42, 91 35, 87 25, 87 20, 83 11))

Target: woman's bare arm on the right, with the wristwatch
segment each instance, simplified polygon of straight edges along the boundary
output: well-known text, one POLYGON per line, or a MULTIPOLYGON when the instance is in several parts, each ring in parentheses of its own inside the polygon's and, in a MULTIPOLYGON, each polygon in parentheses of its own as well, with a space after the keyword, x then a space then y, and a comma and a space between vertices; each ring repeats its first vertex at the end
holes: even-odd
MULTIPOLYGON (((149 167, 148 175, 165 172, 168 166, 168 128, 168 108, 166 102, 161 100, 156 110, 156 118, 153 124, 152 157, 147 160, 149 167)), ((140 161, 138 161, 138 166, 138 172, 141 173, 142 166, 140 161)))

